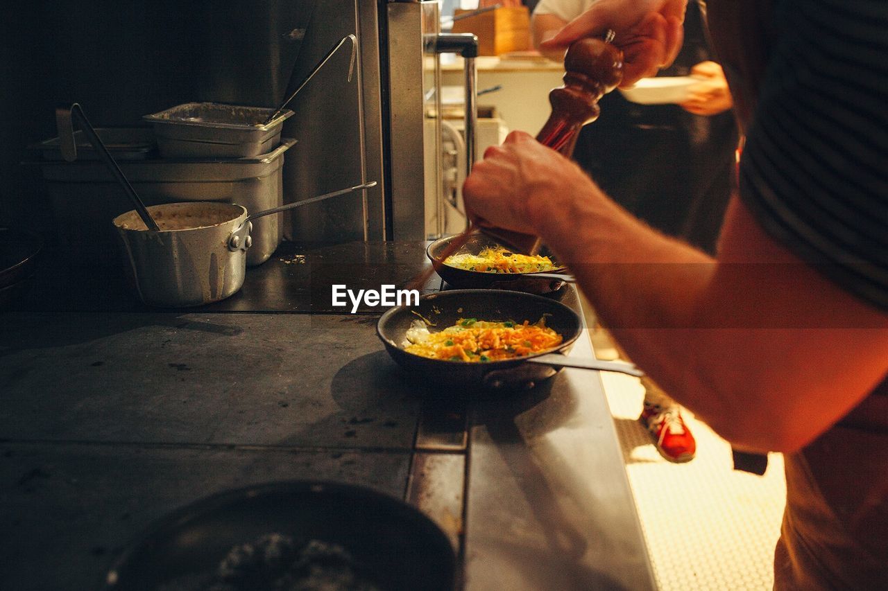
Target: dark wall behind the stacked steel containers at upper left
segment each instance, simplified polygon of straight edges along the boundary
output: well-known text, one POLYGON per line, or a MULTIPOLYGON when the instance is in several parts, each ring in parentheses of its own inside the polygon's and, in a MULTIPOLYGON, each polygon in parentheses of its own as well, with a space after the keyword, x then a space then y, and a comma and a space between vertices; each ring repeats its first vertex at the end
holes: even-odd
POLYGON ((315 0, 9 3, 0 16, 0 225, 52 234, 29 144, 79 102, 95 126, 194 100, 274 106, 315 0))

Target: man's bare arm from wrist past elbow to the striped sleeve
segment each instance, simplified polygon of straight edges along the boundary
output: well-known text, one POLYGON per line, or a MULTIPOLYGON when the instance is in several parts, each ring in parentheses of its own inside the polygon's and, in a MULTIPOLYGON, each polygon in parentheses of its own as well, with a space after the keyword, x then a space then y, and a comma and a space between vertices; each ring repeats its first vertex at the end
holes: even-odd
POLYGON ((527 215, 631 359, 741 447, 806 445, 888 369, 884 314, 774 245, 736 200, 718 262, 605 199, 554 196, 527 215))

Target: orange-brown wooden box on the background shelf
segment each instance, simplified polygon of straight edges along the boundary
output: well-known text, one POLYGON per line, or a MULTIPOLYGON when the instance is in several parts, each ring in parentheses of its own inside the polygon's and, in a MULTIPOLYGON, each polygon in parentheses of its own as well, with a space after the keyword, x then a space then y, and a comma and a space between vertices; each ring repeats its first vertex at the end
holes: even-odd
MULTIPOLYGON (((464 12, 457 10, 458 17, 464 12)), ((478 35, 479 55, 500 55, 510 51, 527 51, 530 43, 530 11, 527 6, 501 6, 464 19, 454 20, 454 33, 478 35)))

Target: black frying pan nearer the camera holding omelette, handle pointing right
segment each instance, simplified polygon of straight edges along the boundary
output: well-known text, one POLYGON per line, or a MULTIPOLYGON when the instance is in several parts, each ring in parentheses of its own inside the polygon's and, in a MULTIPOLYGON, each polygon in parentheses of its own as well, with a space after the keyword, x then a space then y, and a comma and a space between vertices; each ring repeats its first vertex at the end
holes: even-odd
POLYGON ((548 379, 562 367, 615 371, 635 376, 642 372, 630 363, 571 359, 564 355, 583 332, 583 322, 563 303, 518 291, 494 289, 455 289, 419 298, 418 306, 398 306, 386 311, 377 322, 377 335, 400 366, 423 374, 429 383, 447 386, 489 388, 530 387, 548 379), (417 319, 433 323, 432 332, 452 327, 459 319, 514 320, 536 322, 545 317, 546 326, 562 337, 555 351, 536 353, 518 359, 485 363, 429 359, 402 349, 407 331, 417 319))

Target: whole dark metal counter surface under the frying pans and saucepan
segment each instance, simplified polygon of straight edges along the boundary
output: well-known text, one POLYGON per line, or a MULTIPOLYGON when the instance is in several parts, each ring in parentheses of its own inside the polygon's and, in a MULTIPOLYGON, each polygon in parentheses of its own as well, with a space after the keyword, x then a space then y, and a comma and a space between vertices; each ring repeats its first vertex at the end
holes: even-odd
MULTIPOLYGON (((419 243, 334 252, 352 283, 402 285, 424 266, 419 243)), ((435 396, 389 359, 376 313, 331 314, 292 281, 311 271, 286 262, 299 256, 329 279, 329 249, 294 248, 250 270, 229 307, 197 311, 142 309, 122 288, 89 305, 100 280, 65 291, 44 266, 36 294, 3 312, 0 588, 98 588, 156 517, 290 478, 422 508, 465 589, 654 587, 598 374, 435 396)), ((591 354, 588 339, 572 354, 591 354)))

